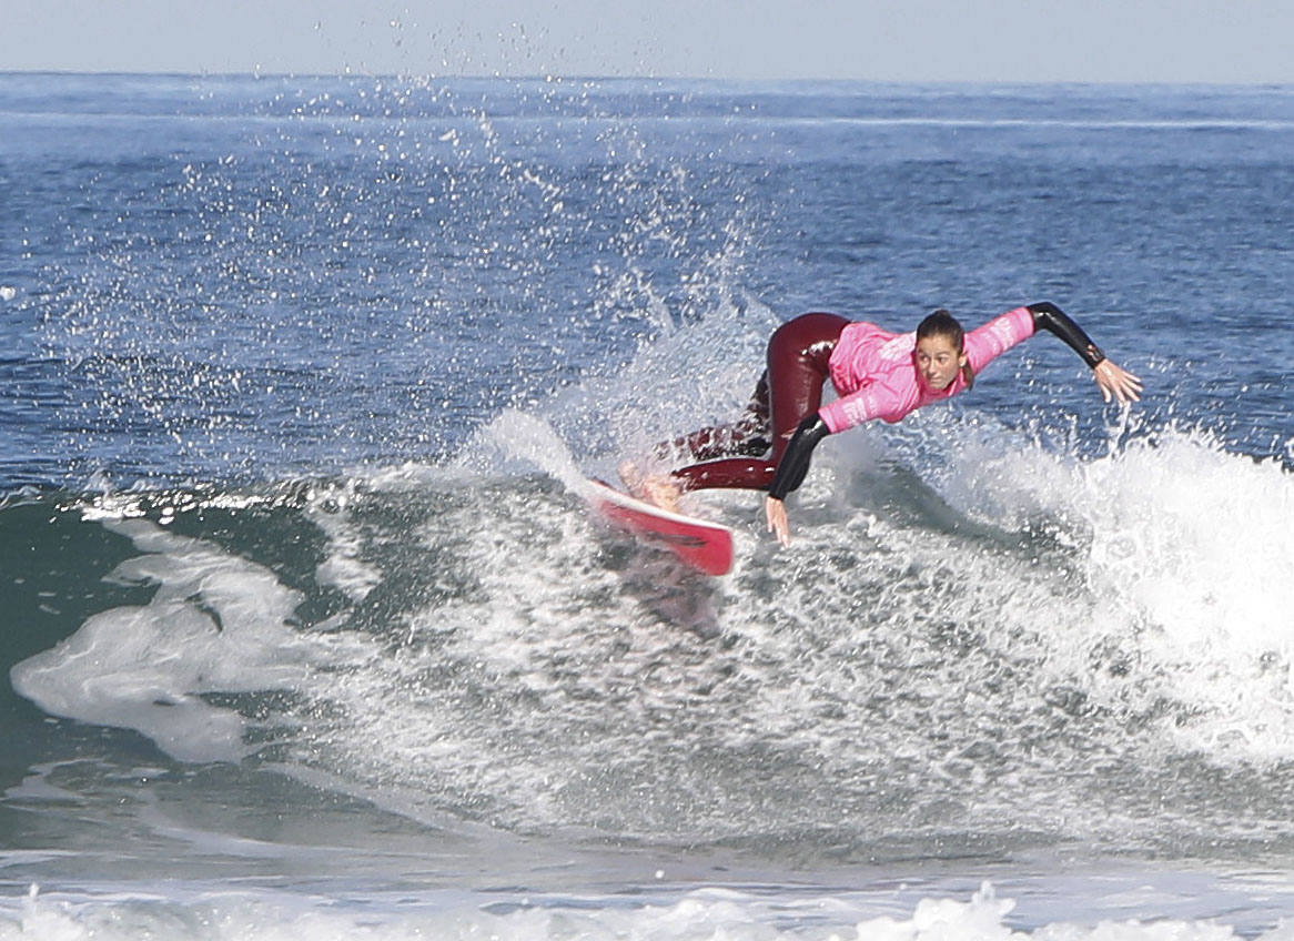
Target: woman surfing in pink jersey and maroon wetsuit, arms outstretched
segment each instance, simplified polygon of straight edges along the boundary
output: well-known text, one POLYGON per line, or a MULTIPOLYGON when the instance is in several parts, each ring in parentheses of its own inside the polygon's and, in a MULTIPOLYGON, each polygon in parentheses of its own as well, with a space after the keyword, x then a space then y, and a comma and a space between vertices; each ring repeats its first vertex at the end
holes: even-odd
POLYGON ((631 491, 665 509, 677 509, 686 491, 767 491, 769 532, 788 545, 784 501, 804 482, 822 439, 873 418, 898 422, 923 405, 969 390, 985 366, 1038 330, 1060 337, 1091 366, 1105 401, 1140 399, 1141 381, 1108 360, 1051 302, 1017 307, 969 333, 945 309, 906 334, 835 313, 805 313, 774 331, 767 369, 736 422, 657 445, 660 458, 683 452, 695 463, 642 479, 630 462, 621 476, 631 491), (840 397, 822 405, 828 378, 840 397))

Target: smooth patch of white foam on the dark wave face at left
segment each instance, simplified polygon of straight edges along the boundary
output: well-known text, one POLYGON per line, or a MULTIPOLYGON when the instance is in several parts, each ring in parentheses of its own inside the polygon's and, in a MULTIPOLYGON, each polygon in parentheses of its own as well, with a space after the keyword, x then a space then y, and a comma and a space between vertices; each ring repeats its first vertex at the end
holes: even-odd
POLYGON ((329 659, 289 621, 296 592, 252 562, 142 519, 106 522, 146 554, 111 577, 155 585, 144 606, 89 617, 17 664, 14 689, 54 716, 136 729, 173 757, 234 761, 246 720, 206 692, 291 689, 329 659))

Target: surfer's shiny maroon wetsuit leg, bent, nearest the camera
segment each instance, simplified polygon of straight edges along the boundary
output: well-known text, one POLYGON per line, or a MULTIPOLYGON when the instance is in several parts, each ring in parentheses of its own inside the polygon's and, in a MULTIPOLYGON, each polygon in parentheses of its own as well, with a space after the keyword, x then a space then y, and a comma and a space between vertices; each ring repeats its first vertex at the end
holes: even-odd
POLYGON ((769 421, 773 452, 767 459, 730 457, 679 467, 673 476, 685 489, 730 487, 766 491, 796 427, 822 405, 822 387, 840 331, 849 324, 835 313, 805 313, 787 321, 769 340, 769 421))

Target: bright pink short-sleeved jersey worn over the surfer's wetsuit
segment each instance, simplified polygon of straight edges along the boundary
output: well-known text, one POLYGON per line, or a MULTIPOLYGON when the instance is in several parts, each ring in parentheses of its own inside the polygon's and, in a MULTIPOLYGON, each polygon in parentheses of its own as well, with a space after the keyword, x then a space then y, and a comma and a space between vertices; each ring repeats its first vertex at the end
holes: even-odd
MULTIPOLYGON (((1027 307, 990 320, 965 335, 967 360, 976 375, 992 360, 1034 335, 1027 307)), ((916 331, 892 334, 875 324, 850 324, 828 361, 840 399, 818 409, 832 434, 880 418, 897 422, 914 409, 951 399, 967 387, 958 373, 942 391, 925 388, 916 374, 916 331)))

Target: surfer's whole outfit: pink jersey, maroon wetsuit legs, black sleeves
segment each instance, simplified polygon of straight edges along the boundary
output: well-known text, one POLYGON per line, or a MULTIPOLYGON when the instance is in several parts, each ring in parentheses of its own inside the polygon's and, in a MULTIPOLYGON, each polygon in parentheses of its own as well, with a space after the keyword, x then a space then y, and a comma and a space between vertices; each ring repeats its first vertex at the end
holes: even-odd
MULTIPOLYGON (((1042 302, 1017 307, 965 334, 973 375, 1038 329, 1060 337, 1093 369, 1105 359, 1058 307, 1042 302)), ((828 434, 873 418, 898 422, 967 390, 964 374, 945 390, 925 387, 917 378, 915 349, 915 331, 893 334, 833 313, 806 313, 783 324, 769 340, 769 366, 745 414, 734 425, 673 441, 673 448, 700 458, 673 476, 685 489, 731 487, 784 498, 804 480, 814 447, 828 434), (823 406, 827 379, 840 397, 823 406)))

